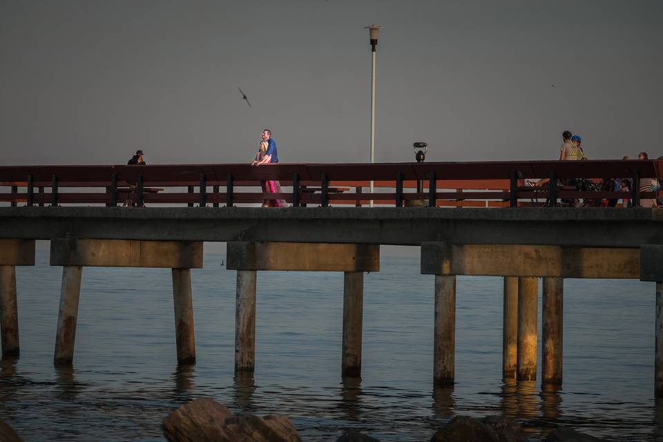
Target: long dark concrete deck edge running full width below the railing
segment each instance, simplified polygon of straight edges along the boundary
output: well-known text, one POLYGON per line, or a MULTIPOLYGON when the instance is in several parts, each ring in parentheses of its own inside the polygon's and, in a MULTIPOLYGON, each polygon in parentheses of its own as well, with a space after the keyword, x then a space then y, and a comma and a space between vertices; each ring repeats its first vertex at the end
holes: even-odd
POLYGON ((335 242, 419 246, 660 244, 663 209, 517 207, 0 207, 0 238, 335 242))

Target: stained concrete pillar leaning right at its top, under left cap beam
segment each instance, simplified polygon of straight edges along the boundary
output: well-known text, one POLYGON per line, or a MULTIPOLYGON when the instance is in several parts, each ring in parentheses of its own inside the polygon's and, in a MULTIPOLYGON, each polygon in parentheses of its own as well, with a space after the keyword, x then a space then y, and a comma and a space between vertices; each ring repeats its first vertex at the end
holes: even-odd
POLYGON ((53 357, 55 365, 71 365, 74 358, 82 274, 83 267, 79 265, 68 265, 62 268, 60 308, 57 314, 55 356, 53 357))

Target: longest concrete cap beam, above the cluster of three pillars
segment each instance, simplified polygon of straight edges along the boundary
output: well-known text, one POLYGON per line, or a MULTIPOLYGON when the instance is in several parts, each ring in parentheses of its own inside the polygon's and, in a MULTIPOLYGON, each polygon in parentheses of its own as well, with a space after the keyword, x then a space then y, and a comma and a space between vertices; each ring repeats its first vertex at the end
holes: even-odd
POLYGON ((421 273, 638 279, 640 250, 424 242, 421 273))

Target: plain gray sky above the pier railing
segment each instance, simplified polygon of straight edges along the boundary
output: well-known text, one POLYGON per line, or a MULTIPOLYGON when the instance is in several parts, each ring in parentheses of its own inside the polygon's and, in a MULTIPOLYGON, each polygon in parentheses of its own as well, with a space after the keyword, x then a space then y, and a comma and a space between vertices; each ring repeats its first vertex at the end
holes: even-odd
POLYGON ((0 0, 0 164, 367 162, 372 22, 376 162, 663 155, 660 0, 0 0))

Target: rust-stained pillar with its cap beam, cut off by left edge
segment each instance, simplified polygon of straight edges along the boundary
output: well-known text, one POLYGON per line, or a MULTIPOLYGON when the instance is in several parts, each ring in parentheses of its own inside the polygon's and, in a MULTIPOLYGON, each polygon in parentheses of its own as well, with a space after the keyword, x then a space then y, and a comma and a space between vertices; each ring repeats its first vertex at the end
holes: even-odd
POLYGON ((0 341, 3 358, 17 358, 20 353, 17 265, 35 265, 35 241, 0 239, 0 341))

